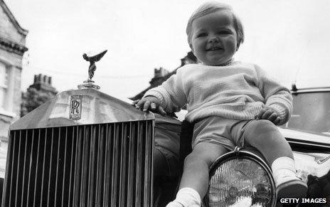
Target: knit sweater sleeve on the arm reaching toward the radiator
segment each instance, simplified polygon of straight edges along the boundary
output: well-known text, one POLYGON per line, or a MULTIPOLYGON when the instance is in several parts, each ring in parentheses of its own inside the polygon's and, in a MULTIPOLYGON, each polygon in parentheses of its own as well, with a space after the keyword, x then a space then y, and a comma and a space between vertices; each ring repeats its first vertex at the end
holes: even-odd
POLYGON ((161 107, 166 112, 179 112, 183 105, 186 105, 187 99, 183 92, 183 82, 181 68, 176 71, 176 74, 166 80, 162 85, 148 90, 144 97, 154 96, 161 102, 161 107))

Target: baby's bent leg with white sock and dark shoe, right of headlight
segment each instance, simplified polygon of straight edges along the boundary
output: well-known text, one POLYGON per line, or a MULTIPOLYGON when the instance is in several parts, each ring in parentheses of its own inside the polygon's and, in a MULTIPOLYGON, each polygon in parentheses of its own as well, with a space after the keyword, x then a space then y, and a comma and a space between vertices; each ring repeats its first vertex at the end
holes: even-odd
POLYGON ((245 142, 258 149, 272 168, 277 198, 303 198, 307 185, 297 178, 292 149, 275 124, 268 120, 255 120, 243 134, 245 142))

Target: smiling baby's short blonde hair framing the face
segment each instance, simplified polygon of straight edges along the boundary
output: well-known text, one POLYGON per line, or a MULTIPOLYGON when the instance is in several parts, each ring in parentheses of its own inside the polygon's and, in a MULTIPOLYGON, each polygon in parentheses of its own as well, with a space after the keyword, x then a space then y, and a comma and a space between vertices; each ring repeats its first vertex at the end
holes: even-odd
POLYGON ((196 20, 196 18, 205 16, 206 14, 211 14, 215 11, 229 11, 230 14, 233 15, 234 27, 235 27, 235 31, 237 33, 237 39, 238 39, 238 47, 240 46, 240 43, 243 43, 243 41, 244 41, 243 25, 242 25, 242 22, 240 21, 240 18, 238 18, 238 16, 236 16, 234 14, 232 7, 229 6, 228 4, 222 4, 219 2, 211 1, 211 2, 207 2, 207 3, 199 6, 198 9, 196 9, 196 11, 193 12, 193 14, 191 15, 191 17, 188 20, 186 33, 188 36, 189 46, 191 46, 191 28, 193 25, 193 21, 196 20))

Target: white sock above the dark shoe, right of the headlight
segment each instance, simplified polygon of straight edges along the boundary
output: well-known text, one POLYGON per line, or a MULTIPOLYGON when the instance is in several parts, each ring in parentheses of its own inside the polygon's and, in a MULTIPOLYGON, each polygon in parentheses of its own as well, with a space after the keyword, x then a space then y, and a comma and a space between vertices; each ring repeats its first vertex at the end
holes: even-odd
POLYGON ((272 162, 272 174, 275 185, 279 186, 286 181, 297 180, 297 173, 294 167, 294 159, 288 156, 281 156, 272 162))

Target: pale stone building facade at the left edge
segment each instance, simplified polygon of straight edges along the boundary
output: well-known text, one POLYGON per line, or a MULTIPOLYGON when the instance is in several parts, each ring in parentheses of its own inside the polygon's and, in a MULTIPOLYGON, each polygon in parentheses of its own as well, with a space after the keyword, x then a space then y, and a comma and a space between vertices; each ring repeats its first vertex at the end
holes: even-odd
POLYGON ((0 0, 0 141, 7 142, 9 125, 21 112, 21 70, 28 31, 0 0))

